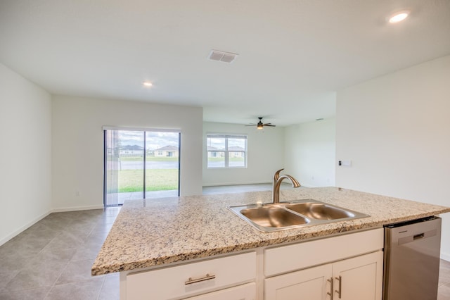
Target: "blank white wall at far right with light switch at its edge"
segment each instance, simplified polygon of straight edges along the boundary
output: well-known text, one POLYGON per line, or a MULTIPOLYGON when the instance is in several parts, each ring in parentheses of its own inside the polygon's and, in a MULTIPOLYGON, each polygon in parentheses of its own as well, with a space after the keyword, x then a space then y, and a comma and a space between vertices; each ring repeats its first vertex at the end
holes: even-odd
MULTIPOLYGON (((338 92, 336 185, 450 206, 450 56, 338 92)), ((450 260, 450 213, 442 257, 450 260)))

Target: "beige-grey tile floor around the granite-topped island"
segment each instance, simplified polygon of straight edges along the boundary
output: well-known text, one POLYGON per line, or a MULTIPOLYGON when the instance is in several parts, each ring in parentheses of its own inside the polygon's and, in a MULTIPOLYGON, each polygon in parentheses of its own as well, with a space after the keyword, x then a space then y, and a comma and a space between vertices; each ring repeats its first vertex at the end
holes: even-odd
MULTIPOLYGON (((241 192, 257 188, 270 185, 241 187, 241 192)), ((214 187, 204 193, 224 191, 214 187)), ((51 213, 0 246, 0 299, 119 299, 117 273, 91 277, 91 265, 119 211, 51 213)), ((448 299, 450 262, 441 261, 438 300, 448 299)))

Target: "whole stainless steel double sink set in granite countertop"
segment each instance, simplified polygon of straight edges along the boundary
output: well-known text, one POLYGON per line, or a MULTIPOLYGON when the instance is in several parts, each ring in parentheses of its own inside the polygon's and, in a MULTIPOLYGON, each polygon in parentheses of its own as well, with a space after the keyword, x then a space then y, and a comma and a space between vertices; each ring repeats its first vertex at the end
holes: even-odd
POLYGON ((229 209, 262 232, 322 225, 369 216, 314 199, 279 204, 229 206, 229 209))

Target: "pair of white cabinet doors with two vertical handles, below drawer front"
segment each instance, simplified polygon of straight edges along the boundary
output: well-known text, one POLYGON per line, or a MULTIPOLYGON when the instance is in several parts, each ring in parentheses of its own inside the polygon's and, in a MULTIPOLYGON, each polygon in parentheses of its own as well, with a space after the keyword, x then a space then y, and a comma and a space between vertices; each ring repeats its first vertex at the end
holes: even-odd
POLYGON ((383 251, 377 251, 268 278, 264 280, 264 299, 379 300, 382 281, 383 251))

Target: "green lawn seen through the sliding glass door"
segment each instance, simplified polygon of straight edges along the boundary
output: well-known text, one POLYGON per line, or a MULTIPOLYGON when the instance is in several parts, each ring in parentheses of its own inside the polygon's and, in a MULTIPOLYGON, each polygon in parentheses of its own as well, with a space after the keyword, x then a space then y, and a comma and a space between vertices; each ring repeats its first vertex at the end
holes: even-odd
MULTIPOLYGON (((119 192, 142 192, 143 170, 120 170, 119 192)), ((146 170, 146 191, 163 191, 178 189, 178 170, 146 170)))

